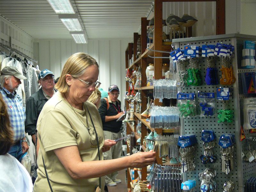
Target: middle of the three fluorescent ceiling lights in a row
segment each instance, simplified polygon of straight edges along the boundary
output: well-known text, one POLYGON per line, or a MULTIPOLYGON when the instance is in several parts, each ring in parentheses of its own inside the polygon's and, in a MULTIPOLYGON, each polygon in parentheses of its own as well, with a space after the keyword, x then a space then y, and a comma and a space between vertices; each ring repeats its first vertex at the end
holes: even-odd
POLYGON ((83 31, 78 14, 59 14, 58 16, 69 31, 83 31))

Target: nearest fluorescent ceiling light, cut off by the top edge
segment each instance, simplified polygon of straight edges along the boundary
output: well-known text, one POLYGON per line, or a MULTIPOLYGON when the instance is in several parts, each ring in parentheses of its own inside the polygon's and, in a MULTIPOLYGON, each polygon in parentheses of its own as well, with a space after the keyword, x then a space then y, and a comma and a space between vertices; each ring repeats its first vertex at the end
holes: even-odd
POLYGON ((75 13, 69 0, 47 0, 57 14, 75 13))

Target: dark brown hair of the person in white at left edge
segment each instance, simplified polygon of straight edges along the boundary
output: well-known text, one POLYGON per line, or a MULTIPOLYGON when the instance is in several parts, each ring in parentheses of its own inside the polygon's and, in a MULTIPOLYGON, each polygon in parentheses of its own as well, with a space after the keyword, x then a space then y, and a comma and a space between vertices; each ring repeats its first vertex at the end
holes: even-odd
POLYGON ((13 143, 13 129, 10 124, 7 106, 0 94, 0 155, 5 155, 13 143))

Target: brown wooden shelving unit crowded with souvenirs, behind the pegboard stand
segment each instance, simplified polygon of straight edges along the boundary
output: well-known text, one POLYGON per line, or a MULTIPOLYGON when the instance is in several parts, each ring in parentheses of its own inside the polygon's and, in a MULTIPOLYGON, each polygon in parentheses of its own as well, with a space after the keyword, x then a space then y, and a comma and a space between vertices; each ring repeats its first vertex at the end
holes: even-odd
MULTIPOLYGON (((145 111, 147 108, 147 98, 146 94, 148 90, 153 90, 153 86, 146 86, 147 81, 146 81, 146 68, 149 63, 154 63, 154 77, 155 79, 161 79, 162 78, 162 65, 163 63, 169 62, 169 59, 162 59, 159 57, 169 57, 169 54, 167 53, 161 53, 161 52, 156 52, 153 50, 159 50, 159 51, 171 51, 171 44, 170 42, 164 43, 162 41, 162 32, 163 32, 163 26, 162 26, 162 9, 163 9, 163 2, 184 2, 184 1, 195 1, 195 0, 155 0, 154 1, 154 18, 155 18, 155 23, 154 23, 154 40, 153 44, 147 49, 147 26, 149 23, 149 20, 147 18, 143 17, 141 18, 141 35, 138 33, 133 34, 133 55, 134 55, 134 61, 131 66, 127 65, 127 60, 126 60, 126 68, 129 68, 130 72, 132 72, 132 69, 137 68, 140 66, 141 68, 141 88, 136 89, 136 91, 141 92, 141 111, 145 111), (135 58, 136 56, 136 51, 137 51, 137 40, 140 37, 140 42, 141 42, 141 55, 139 58, 135 58), (168 45, 166 45, 168 44, 168 45), (151 58, 151 57, 157 57, 157 58, 151 58)), ((204 2, 204 0, 196 0, 196 1, 201 1, 204 2)), ((205 1, 215 1, 216 2, 216 34, 224 34, 225 33, 225 1, 223 0, 205 0, 205 1)), ((192 34, 192 27, 188 28, 187 30, 187 35, 188 37, 191 37, 192 34)), ((130 44, 131 46, 131 44, 130 44)), ((128 44, 129 47, 129 44, 128 44)), ((127 47, 127 49, 128 49, 127 47)), ((126 52, 127 52, 126 49, 126 52)), ((130 54, 130 52, 129 52, 130 54)), ((129 55, 131 57, 131 55, 129 55)), ((128 56, 127 56, 128 58, 128 56)), ((128 62, 129 63, 129 62, 128 62)), ((126 90, 129 89, 129 84, 126 83, 126 90)), ((155 105, 162 106, 163 104, 159 102, 158 99, 155 99, 154 101, 155 105)), ((129 107, 129 102, 126 101, 126 108, 129 107)), ((144 137, 147 135, 148 131, 152 131, 150 128, 149 122, 146 121, 144 117, 141 117, 140 114, 134 114, 135 120, 140 120, 141 121, 141 143, 143 143, 144 137)), ((135 127, 136 127, 137 122, 135 122, 135 127)), ((130 126, 129 123, 127 123, 127 134, 130 134, 131 132, 134 132, 134 128, 130 126)), ((163 133, 173 133, 172 129, 155 129, 155 131, 162 135, 163 133)), ((135 134, 136 136, 136 134, 135 134)), ((145 146, 142 145, 143 151, 145 151, 145 146)), ((156 162, 158 164, 162 164, 162 158, 159 158, 157 156, 156 162)), ((147 168, 142 169, 142 180, 145 180, 147 176, 147 168)), ((127 173, 127 178, 128 178, 128 188, 130 188, 130 172, 127 173)))

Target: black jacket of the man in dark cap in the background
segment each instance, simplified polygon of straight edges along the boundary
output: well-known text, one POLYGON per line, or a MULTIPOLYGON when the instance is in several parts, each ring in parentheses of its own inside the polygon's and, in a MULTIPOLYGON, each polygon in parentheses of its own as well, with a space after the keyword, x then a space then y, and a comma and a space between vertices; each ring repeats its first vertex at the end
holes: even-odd
MULTIPOLYGON (((114 103, 112 103, 109 96, 108 96, 108 103, 109 103, 109 108, 107 110, 107 101, 104 98, 100 101, 99 113, 100 113, 100 117, 101 117, 101 121, 102 121, 102 125, 103 125, 103 130, 118 133, 121 129, 122 121, 116 121, 116 119, 115 119, 112 121, 105 122, 105 116, 114 116, 114 115, 118 114, 115 107, 113 106, 114 103)), ((116 101, 117 109, 119 109, 117 106, 118 104, 120 107, 120 112, 122 112, 121 102, 119 100, 116 101)))

